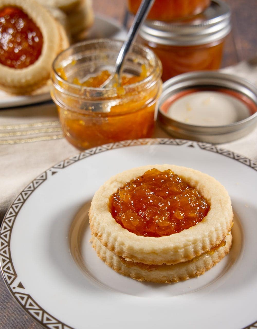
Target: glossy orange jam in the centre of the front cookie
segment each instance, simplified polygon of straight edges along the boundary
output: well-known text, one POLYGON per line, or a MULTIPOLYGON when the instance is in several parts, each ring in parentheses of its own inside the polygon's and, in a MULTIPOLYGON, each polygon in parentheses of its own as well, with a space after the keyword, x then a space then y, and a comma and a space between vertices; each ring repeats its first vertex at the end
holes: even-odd
POLYGON ((110 212, 123 228, 145 237, 179 233, 207 215, 199 192, 170 169, 146 171, 110 197, 110 212))

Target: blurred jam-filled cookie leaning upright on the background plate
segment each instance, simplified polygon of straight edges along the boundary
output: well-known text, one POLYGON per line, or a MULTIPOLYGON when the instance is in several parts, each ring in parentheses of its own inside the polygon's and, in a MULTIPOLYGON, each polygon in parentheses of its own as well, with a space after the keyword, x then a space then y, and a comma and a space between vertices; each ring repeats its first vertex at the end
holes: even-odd
POLYGON ((64 28, 31 0, 0 4, 0 88, 30 93, 45 84, 57 54, 68 47, 64 28))

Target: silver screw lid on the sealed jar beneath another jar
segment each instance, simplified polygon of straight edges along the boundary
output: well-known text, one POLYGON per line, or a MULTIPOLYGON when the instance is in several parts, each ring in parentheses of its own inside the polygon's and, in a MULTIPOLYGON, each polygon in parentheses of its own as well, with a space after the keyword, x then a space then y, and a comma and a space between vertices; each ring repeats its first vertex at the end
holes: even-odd
POLYGON ((176 22, 147 20, 140 36, 149 42, 173 46, 193 46, 221 40, 231 31, 230 9, 220 0, 190 19, 176 22))

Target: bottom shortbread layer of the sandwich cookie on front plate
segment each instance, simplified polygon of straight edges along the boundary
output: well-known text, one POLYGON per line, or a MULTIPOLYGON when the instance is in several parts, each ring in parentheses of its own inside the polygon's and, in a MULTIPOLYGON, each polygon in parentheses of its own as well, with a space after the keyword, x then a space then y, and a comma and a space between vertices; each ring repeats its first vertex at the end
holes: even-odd
POLYGON ((171 283, 199 276, 215 266, 228 254, 232 243, 232 235, 228 234, 225 240, 226 244, 213 250, 212 253, 203 253, 191 261, 175 265, 145 265, 142 263, 126 262, 114 252, 104 247, 97 238, 92 237, 91 240, 97 256, 116 272, 139 281, 171 283))

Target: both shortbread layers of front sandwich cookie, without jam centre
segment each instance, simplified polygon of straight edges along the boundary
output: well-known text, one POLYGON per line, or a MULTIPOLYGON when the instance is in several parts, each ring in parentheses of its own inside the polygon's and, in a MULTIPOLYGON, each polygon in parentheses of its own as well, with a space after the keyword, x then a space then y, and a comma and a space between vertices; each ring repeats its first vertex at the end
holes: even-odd
POLYGON ((230 250, 233 212, 225 188, 200 171, 175 165, 134 168, 110 178, 95 193, 90 207, 92 246, 116 272, 140 281, 171 283, 203 274, 230 250), (136 235, 110 212, 110 197, 147 170, 171 169, 196 189, 210 209, 202 221, 179 233, 161 237, 136 235))

